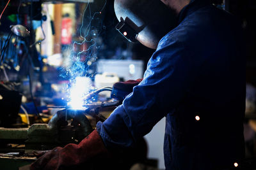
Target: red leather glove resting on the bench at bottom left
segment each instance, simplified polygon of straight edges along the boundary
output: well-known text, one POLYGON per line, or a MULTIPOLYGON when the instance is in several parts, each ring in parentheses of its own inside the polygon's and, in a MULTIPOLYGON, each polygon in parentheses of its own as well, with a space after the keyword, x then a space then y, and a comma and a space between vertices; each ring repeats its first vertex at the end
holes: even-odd
POLYGON ((95 157, 109 157, 99 133, 94 130, 79 145, 68 144, 64 148, 56 147, 45 153, 31 164, 30 169, 70 169, 95 157), (68 168, 69 167, 69 168, 68 168))

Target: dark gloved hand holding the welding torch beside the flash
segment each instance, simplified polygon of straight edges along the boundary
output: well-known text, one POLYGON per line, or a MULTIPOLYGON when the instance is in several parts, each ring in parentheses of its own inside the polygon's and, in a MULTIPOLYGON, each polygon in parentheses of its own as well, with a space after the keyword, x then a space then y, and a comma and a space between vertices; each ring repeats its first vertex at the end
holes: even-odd
POLYGON ((124 100, 124 98, 132 92, 133 87, 138 85, 142 80, 143 79, 141 78, 137 80, 127 80, 115 83, 111 92, 111 98, 118 99, 120 101, 124 100))

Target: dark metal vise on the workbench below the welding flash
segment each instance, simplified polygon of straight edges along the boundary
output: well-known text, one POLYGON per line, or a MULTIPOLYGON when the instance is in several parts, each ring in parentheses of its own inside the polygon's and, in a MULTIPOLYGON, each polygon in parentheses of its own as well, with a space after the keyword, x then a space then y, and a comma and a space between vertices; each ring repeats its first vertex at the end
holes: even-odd
POLYGON ((33 124, 28 129, 26 149, 49 150, 55 146, 79 143, 93 131, 84 110, 58 111, 48 124, 33 124))

